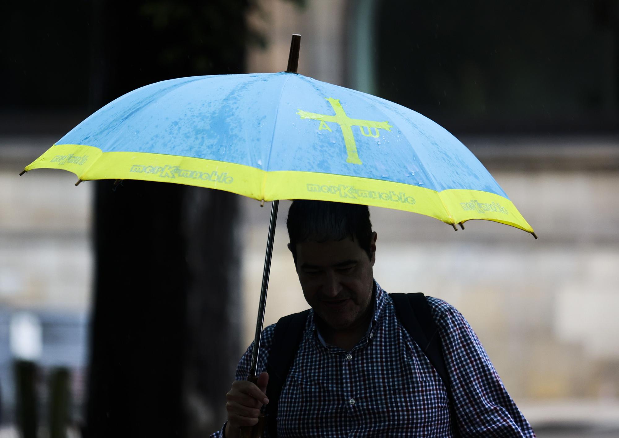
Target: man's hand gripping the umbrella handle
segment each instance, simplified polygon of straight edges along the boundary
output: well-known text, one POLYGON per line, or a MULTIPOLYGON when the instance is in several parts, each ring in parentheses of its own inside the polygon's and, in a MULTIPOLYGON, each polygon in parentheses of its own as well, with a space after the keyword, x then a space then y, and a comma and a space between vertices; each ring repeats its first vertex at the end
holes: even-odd
POLYGON ((262 405, 269 403, 266 396, 269 374, 261 372, 258 376, 258 385, 249 380, 235 380, 232 388, 226 394, 226 409, 228 423, 226 424, 226 438, 238 438, 240 427, 258 424, 258 416, 262 405))

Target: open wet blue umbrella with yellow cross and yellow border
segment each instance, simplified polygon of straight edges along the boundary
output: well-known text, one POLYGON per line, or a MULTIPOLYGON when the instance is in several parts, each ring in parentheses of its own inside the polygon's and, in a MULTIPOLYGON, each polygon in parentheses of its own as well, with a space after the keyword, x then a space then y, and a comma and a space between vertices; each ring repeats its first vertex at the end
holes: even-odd
POLYGON ((396 208, 455 230, 468 220, 491 220, 535 236, 456 137, 404 106, 297 74, 299 45, 293 35, 285 72, 184 77, 129 92, 24 170, 71 171, 76 185, 141 179, 273 201, 254 375, 279 199, 396 208))

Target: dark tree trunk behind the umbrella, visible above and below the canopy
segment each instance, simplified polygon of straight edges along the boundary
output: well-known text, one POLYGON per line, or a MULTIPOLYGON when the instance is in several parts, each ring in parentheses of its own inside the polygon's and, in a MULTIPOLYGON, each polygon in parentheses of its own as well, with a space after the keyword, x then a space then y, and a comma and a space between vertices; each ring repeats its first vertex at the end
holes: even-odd
MULTIPOLYGON (((93 2, 92 109, 157 80, 241 72, 248 5, 93 2)), ((223 423, 238 360, 238 197, 84 184, 96 192, 86 435, 205 436, 223 423)))

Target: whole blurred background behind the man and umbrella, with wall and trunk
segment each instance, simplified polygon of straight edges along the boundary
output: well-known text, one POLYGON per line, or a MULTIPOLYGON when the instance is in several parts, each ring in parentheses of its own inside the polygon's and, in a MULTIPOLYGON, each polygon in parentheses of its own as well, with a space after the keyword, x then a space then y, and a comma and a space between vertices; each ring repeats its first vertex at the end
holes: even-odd
MULTIPOLYGON (((456 306, 537 436, 619 437, 617 1, 0 8, 0 437, 221 427, 253 340, 270 209, 175 184, 17 175, 134 88, 285 70, 292 33, 301 74, 446 127, 539 236, 371 208, 376 280, 456 306)), ((266 324, 308 307, 286 249, 288 205, 266 324)))

